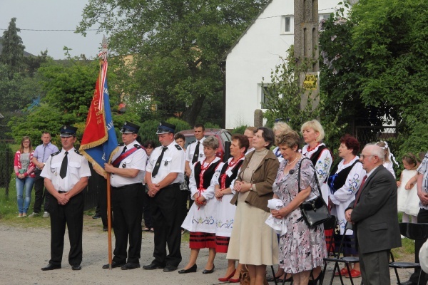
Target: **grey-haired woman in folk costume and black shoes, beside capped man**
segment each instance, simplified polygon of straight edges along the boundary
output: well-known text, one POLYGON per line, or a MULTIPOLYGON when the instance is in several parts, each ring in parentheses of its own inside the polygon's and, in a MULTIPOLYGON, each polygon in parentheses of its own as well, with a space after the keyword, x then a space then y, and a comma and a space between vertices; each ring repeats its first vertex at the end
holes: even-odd
POLYGON ((189 209, 187 217, 181 227, 190 232, 190 259, 184 269, 178 271, 180 274, 196 272, 196 259, 200 249, 208 248, 208 261, 203 274, 214 271, 215 259, 215 228, 216 207, 215 182, 218 181, 222 162, 215 156, 218 150, 218 139, 210 135, 203 141, 203 152, 205 160, 195 162, 190 175, 189 188, 192 199, 195 200, 189 209))

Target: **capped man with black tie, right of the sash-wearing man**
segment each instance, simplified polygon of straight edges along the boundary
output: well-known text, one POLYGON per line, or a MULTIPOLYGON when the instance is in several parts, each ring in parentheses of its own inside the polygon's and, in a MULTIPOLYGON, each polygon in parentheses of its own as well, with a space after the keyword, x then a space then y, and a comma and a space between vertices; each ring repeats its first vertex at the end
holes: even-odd
POLYGON ((174 140, 175 125, 160 123, 157 134, 160 147, 153 150, 146 169, 146 185, 151 197, 154 224, 155 259, 144 269, 174 271, 181 262, 180 184, 184 181, 185 153, 174 140), (166 246, 168 252, 166 254, 166 246))

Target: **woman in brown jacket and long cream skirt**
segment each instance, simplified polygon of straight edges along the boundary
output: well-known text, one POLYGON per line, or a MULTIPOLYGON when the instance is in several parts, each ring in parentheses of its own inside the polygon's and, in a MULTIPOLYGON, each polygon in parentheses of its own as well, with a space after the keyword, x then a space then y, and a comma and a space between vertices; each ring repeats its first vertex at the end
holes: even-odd
POLYGON ((278 263, 275 232, 265 224, 269 217, 267 201, 272 199, 279 162, 270 147, 275 135, 268 128, 258 128, 253 137, 255 150, 245 156, 235 180, 236 204, 234 227, 230 236, 227 259, 246 264, 251 284, 263 284, 266 266, 278 263))

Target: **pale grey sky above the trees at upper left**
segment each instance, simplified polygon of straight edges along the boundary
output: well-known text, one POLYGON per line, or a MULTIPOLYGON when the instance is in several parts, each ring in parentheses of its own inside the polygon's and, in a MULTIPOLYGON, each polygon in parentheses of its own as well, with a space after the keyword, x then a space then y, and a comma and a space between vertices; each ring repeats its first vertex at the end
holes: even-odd
MULTIPOLYGON (((88 31, 86 37, 74 33, 82 19, 83 8, 89 0, 0 0, 0 36, 16 18, 18 33, 24 42, 25 51, 40 54, 48 49, 54 59, 66 58, 63 47, 71 48, 71 56, 82 53, 86 58, 96 57, 101 51, 103 34, 88 31), (71 31, 26 31, 71 30, 71 31)), ((96 28, 96 27, 94 27, 96 28)))

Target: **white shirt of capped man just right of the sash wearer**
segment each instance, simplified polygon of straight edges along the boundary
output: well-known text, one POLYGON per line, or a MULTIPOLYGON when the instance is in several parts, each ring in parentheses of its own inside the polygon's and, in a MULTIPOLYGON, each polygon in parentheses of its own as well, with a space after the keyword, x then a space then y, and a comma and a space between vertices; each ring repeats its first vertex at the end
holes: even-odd
MULTIPOLYGON (((153 172, 153 168, 156 165, 156 161, 158 161, 158 157, 162 153, 162 145, 160 147, 156 147, 147 164, 147 172, 153 172)), ((189 147, 188 147, 189 149, 189 147)), ((156 174, 156 177, 152 176, 152 183, 158 184, 161 182, 166 175, 173 173, 178 173, 177 177, 173 181, 173 183, 183 183, 184 181, 184 161, 185 161, 185 152, 180 147, 180 145, 177 145, 175 141, 171 142, 168 145, 168 150, 165 150, 162 157, 161 166, 159 167, 158 174, 156 174)))

